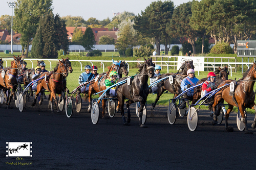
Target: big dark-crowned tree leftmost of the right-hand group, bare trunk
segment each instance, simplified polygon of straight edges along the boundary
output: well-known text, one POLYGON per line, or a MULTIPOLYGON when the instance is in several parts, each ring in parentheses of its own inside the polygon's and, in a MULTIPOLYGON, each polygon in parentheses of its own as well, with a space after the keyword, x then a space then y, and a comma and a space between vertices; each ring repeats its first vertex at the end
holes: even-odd
POLYGON ((156 42, 157 54, 160 55, 161 36, 165 34, 167 19, 172 17, 174 4, 172 1, 152 2, 141 11, 141 15, 135 16, 134 28, 144 37, 154 38, 156 42))

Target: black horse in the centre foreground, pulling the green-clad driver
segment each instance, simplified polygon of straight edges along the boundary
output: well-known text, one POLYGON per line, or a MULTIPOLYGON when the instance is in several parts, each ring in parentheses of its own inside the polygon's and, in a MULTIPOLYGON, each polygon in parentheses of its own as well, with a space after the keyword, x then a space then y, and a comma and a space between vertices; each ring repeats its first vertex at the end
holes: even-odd
MULTIPOLYGON (((150 88, 148 87, 147 80, 148 80, 148 77, 150 78, 154 77, 155 75, 154 70, 155 70, 155 64, 152 62, 152 58, 147 60, 144 58, 144 63, 143 65, 139 66, 137 75, 135 75, 134 78, 131 80, 131 85, 127 85, 127 83, 124 83, 118 86, 117 99, 120 103, 123 125, 128 125, 131 122, 131 113, 130 113, 129 106, 134 102, 140 102, 140 107, 138 108, 139 125, 142 128, 146 127, 145 125, 142 124, 142 111, 146 103, 147 95, 150 92, 150 88), (123 109, 125 98, 129 99, 126 102, 127 122, 124 117, 124 109, 123 109)), ((123 79, 120 79, 119 81, 122 81, 123 79)))

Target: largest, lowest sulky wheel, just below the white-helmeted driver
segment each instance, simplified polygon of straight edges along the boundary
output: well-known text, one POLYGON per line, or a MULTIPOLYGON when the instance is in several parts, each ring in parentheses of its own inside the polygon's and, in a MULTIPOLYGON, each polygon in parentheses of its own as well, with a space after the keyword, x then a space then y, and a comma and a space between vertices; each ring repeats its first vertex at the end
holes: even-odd
POLYGON ((197 130, 198 126, 198 112, 195 107, 190 107, 187 114, 187 126, 190 131, 197 130))

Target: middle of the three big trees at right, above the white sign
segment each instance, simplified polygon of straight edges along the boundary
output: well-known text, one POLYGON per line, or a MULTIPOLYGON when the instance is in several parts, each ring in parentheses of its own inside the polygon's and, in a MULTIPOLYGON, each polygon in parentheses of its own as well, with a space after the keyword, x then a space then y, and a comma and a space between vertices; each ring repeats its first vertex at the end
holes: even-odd
POLYGON ((167 23, 166 32, 173 37, 187 37, 189 43, 193 47, 193 53, 196 54, 196 39, 198 37, 198 32, 189 25, 193 2, 183 3, 175 8, 172 19, 167 23))

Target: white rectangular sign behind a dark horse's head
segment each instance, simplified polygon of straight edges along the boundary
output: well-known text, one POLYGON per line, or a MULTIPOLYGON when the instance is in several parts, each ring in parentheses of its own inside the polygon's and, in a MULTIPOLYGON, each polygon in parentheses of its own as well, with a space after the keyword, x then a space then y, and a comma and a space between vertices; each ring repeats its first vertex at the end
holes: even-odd
POLYGON ((204 57, 189 57, 189 56, 179 56, 178 57, 178 69, 181 67, 181 64, 184 61, 191 61, 193 60, 193 65, 195 66, 195 71, 204 71, 204 57))

